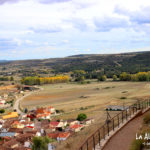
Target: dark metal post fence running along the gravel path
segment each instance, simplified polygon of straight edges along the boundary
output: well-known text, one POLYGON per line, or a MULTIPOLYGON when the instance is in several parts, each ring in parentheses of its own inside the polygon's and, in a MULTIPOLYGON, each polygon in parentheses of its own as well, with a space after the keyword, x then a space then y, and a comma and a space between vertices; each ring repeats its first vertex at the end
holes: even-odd
POLYGON ((101 141, 110 135, 111 131, 117 130, 122 123, 127 122, 138 110, 147 109, 150 106, 150 100, 137 102, 125 110, 122 110, 110 120, 106 121, 99 129, 97 129, 86 141, 79 147, 79 150, 96 150, 96 146, 101 147, 101 141))

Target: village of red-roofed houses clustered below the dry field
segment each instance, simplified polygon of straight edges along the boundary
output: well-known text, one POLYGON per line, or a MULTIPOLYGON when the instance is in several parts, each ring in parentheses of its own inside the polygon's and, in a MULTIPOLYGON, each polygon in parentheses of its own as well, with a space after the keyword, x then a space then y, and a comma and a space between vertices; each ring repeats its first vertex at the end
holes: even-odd
MULTIPOLYGON (((13 96, 21 97, 25 94, 24 91, 29 93, 33 90, 31 87, 23 88, 19 92, 13 92, 13 96)), ((24 109, 22 113, 18 113, 15 109, 8 111, 7 108, 13 107, 9 95, 10 91, 9 94, 4 93, 0 97, 0 108, 3 110, 0 116, 0 150, 31 150, 34 137, 51 139, 48 150, 53 150, 55 149, 53 143, 61 143, 94 123, 94 119, 82 117, 69 120, 56 119, 55 116, 59 114, 53 106, 24 109)))

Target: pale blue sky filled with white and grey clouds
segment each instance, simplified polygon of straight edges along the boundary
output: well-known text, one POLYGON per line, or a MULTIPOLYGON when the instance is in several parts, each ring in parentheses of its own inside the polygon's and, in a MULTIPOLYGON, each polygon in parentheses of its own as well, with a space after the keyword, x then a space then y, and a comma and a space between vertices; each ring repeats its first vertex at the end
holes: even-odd
POLYGON ((0 0, 0 60, 150 50, 148 0, 0 0))

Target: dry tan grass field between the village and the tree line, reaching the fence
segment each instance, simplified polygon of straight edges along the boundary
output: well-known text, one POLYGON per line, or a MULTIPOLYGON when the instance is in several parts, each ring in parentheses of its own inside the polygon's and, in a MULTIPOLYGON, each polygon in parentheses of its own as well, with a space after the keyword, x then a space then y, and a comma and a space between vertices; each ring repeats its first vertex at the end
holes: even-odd
MULTIPOLYGON (((92 82, 91 84, 54 84, 45 85, 43 90, 21 101, 23 107, 52 105, 65 113, 59 119, 76 118, 79 113, 95 118, 95 123, 73 135, 57 149, 77 149, 96 128, 106 120, 107 105, 129 105, 138 98, 150 96, 149 82, 92 82), (125 97, 125 99, 122 99, 125 97), (76 142, 73 142, 76 141, 76 142)), ((118 112, 111 112, 114 116, 118 112)))

